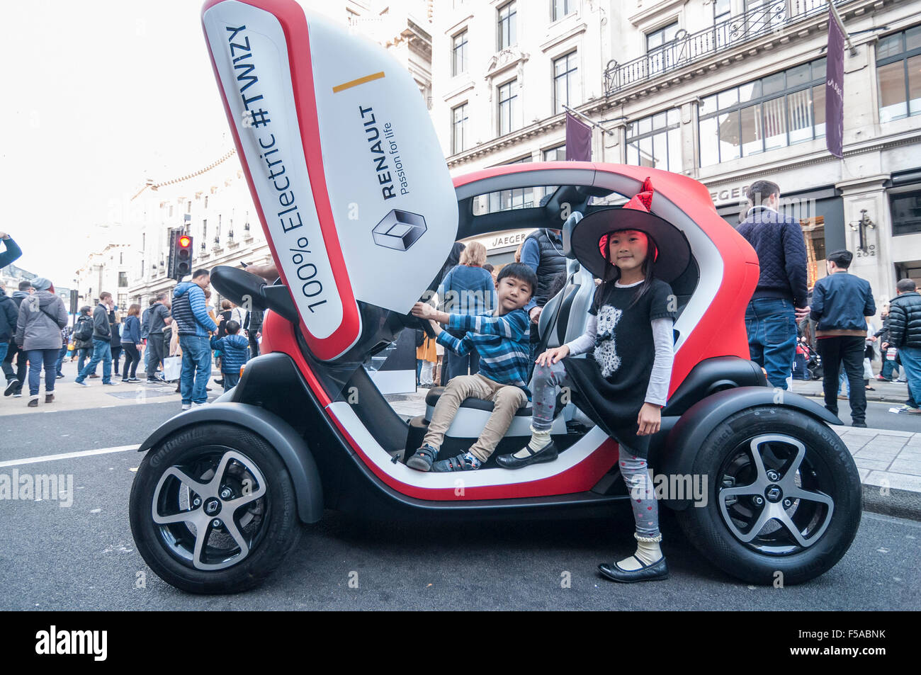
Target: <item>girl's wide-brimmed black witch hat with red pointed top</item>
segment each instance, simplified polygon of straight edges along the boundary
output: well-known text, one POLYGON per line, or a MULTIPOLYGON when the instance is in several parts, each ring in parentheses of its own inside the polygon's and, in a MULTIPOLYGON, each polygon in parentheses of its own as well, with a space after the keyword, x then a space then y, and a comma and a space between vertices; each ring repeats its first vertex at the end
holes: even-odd
POLYGON ((604 279, 608 264, 605 250, 608 235, 624 229, 643 232, 650 239, 648 255, 653 257, 653 273, 671 283, 682 275, 691 262, 691 248, 681 230, 648 212, 652 203, 652 183, 643 183, 643 192, 635 195, 621 208, 597 211, 574 225, 567 223, 564 231, 566 254, 575 257, 590 273, 604 279))

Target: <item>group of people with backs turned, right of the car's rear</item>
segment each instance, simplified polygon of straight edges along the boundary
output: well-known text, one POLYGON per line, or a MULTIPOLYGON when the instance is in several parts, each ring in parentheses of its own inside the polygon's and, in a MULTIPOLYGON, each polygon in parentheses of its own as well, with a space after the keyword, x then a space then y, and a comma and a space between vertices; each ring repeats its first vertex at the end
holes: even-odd
POLYGON ((780 188, 756 180, 740 234, 758 254, 761 275, 745 313, 752 361, 764 367, 772 386, 787 390, 799 351, 815 351, 822 363, 825 408, 838 413, 848 401, 851 424, 866 427, 871 381, 891 380, 901 364, 908 384, 902 412, 921 414, 921 296, 915 282, 901 279, 897 296, 873 322, 876 303, 869 281, 849 272, 854 254, 833 250, 826 275, 807 287, 806 247, 799 221, 780 213, 780 188), (882 366, 874 376, 872 360, 880 346, 882 366))

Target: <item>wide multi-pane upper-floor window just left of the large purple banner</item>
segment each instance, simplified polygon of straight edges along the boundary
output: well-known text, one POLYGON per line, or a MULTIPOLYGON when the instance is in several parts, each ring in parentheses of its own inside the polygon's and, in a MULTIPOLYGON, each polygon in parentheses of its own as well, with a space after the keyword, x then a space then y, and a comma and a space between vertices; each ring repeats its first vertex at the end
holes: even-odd
POLYGON ((701 99, 700 166, 821 138, 824 87, 822 58, 701 99))

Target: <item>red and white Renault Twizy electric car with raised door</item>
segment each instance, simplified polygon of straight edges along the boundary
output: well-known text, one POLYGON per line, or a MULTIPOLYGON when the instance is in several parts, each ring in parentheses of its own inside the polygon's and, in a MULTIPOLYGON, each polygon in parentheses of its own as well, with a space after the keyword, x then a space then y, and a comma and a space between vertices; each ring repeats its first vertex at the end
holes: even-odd
MULTIPOLYGON (((262 355, 236 388, 173 417, 140 448, 131 527, 157 575, 192 592, 251 588, 281 564, 299 523, 320 520, 324 508, 434 520, 564 510, 579 518, 628 499, 616 442, 571 402, 557 406, 554 462, 508 471, 491 459, 462 473, 406 467, 441 390, 406 421, 363 364, 402 330, 421 327, 408 312, 456 239, 522 227, 564 228, 567 282, 540 328, 550 346, 571 340, 595 287, 574 257, 578 223, 605 218, 616 229, 628 212, 604 198, 633 196, 647 176, 656 190, 649 217, 670 231, 657 244, 687 261, 670 279, 675 360, 649 455, 655 473, 671 477, 663 504, 708 559, 752 583, 771 583, 778 571, 785 583, 803 582, 840 560, 861 509, 857 468, 829 427, 841 422, 770 389, 749 360, 744 312, 758 261, 703 185, 587 162, 450 180, 413 81, 377 45, 293 0, 211 0, 203 23, 281 278, 266 285, 239 269, 212 272, 224 297, 267 310, 262 355), (551 195, 545 204, 490 208, 489 195, 535 187, 551 195), (565 217, 572 212, 584 218, 565 217), (705 485, 703 499, 676 492, 693 481, 705 485)), ((443 458, 469 448, 491 407, 463 403, 443 458)), ((494 458, 522 448, 529 426, 530 406, 494 458)))

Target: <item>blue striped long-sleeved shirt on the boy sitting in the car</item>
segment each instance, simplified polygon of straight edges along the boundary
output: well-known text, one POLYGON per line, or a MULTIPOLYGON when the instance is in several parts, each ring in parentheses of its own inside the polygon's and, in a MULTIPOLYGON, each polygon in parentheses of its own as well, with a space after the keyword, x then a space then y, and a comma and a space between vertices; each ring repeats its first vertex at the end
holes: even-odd
POLYGON ((502 316, 449 314, 448 328, 467 334, 460 340, 447 331, 438 334, 437 342, 457 355, 465 355, 471 347, 480 355, 480 373, 500 384, 510 384, 528 390, 530 361, 530 319, 524 309, 515 309, 502 316))

